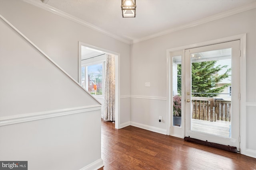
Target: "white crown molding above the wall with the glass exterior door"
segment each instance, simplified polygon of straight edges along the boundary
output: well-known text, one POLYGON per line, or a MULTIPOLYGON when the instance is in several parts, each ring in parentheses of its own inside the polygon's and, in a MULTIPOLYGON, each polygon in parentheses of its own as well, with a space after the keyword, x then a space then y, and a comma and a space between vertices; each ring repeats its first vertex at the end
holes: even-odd
POLYGON ((196 25, 200 25, 200 24, 207 23, 207 22, 210 22, 210 21, 214 21, 214 20, 218 20, 218 19, 225 18, 225 17, 228 17, 228 16, 232 16, 234 14, 238 14, 238 13, 241 13, 241 12, 252 10, 254 8, 256 8, 256 2, 252 2, 252 3, 247 4, 245 6, 242 6, 242 7, 234 8, 232 10, 228 10, 228 11, 225 11, 225 12, 213 15, 213 16, 209 16, 209 17, 203 18, 201 20, 193 21, 193 22, 190 22, 190 23, 187 23, 187 24, 184 24, 184 25, 173 27, 171 29, 166 29, 164 31, 161 31, 161 32, 143 37, 141 39, 134 39, 132 41, 132 44, 138 43, 140 41, 145 41, 145 40, 148 40, 148 39, 152 39, 152 38, 155 38, 155 37, 159 37, 161 35, 166 35, 168 33, 172 33, 172 32, 175 32, 175 31, 180 31, 182 29, 194 27, 196 25))

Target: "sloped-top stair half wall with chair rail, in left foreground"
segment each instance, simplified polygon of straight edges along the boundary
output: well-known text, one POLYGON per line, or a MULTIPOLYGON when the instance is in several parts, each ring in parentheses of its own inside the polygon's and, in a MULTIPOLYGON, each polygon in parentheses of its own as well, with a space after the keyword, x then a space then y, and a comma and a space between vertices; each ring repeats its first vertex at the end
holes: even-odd
POLYGON ((0 28, 0 160, 102 166, 99 102, 2 19, 0 28))

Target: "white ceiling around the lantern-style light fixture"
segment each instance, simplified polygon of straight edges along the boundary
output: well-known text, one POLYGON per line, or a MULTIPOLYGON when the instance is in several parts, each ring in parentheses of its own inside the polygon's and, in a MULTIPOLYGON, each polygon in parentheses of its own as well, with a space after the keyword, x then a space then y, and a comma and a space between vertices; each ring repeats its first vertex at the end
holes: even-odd
POLYGON ((37 1, 130 43, 197 25, 207 21, 205 18, 227 15, 229 10, 234 14, 240 8, 255 8, 256 4, 256 0, 137 0, 136 18, 122 18, 121 0, 37 1))

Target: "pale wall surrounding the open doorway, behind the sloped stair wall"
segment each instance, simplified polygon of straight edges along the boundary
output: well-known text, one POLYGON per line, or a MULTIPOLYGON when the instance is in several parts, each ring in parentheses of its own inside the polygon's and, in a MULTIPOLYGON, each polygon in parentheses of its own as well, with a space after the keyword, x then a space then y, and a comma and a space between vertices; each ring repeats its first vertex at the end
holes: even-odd
MULTIPOLYGON (((77 81, 79 41, 119 53, 120 96, 130 95, 130 45, 21 0, 1 0, 0 14, 77 81)), ((128 106, 121 98, 120 123, 128 106)))

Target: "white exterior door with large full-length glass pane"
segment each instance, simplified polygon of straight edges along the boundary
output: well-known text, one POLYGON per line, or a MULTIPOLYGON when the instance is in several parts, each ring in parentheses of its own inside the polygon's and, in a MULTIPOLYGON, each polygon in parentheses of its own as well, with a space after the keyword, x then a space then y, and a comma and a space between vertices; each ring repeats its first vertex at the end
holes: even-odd
POLYGON ((240 40, 185 50, 185 136, 240 150, 240 40))

